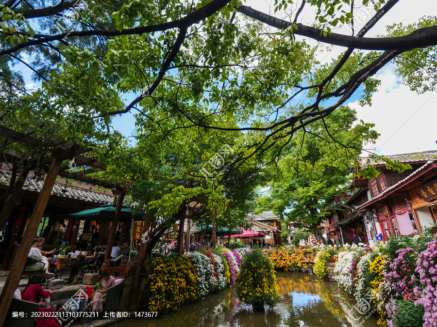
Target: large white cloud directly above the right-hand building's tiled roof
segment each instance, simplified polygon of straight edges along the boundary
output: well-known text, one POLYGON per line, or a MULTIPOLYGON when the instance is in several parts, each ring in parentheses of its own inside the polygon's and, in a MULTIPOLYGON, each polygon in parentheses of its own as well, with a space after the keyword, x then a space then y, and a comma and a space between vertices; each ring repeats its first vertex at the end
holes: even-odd
POLYGON ((437 149, 437 97, 431 92, 417 94, 400 84, 393 66, 382 72, 379 92, 374 93, 372 106, 349 106, 358 119, 374 123, 381 134, 375 147, 378 153, 394 155, 437 149))

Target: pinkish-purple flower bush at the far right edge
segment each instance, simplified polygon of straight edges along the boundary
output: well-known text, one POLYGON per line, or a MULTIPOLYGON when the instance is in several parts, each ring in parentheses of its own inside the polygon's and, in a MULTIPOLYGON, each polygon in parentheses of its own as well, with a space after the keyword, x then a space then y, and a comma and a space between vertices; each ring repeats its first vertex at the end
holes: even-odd
POLYGON ((414 289, 419 298, 414 303, 425 308, 423 314, 424 327, 437 327, 437 244, 426 243, 428 247, 419 254, 416 272, 419 274, 421 287, 414 289))

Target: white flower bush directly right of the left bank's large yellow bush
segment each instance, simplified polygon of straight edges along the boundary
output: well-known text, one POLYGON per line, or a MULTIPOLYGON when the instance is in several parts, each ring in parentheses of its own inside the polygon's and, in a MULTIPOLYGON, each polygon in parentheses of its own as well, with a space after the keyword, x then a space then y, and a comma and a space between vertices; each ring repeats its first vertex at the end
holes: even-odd
POLYGON ((191 252, 188 255, 197 274, 197 294, 199 298, 204 298, 216 288, 214 279, 214 266, 211 260, 202 253, 191 252))

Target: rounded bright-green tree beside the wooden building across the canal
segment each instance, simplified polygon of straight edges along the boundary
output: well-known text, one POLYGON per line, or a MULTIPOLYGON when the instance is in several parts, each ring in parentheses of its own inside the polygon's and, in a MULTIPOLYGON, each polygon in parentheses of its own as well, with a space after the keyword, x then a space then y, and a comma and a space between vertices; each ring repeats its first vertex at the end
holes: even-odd
POLYGON ((363 144, 378 137, 372 124, 355 120, 355 111, 342 106, 300 131, 272 171, 270 192, 258 199, 260 210, 273 210, 322 241, 317 225, 334 209, 333 198, 350 186, 363 144))

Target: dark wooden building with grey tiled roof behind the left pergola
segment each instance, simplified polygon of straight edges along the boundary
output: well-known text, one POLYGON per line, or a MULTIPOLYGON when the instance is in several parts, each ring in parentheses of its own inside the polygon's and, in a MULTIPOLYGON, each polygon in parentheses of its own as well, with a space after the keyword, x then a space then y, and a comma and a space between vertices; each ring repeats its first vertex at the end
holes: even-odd
MULTIPOLYGON (((3 241, 0 243, 0 269, 7 270, 12 263, 12 257, 17 252, 17 246, 24 233, 28 219, 34 209, 44 181, 37 177, 38 173, 31 171, 24 182, 18 201, 10 215, 7 225, 2 231, 3 241)), ((11 180, 11 171, 5 163, 0 163, 0 196, 6 192, 11 180)), ((68 181, 58 177, 51 191, 49 202, 41 219, 36 236, 44 236, 46 242, 55 247, 62 242, 74 245, 79 233, 98 237, 100 244, 107 241, 104 235, 109 231, 109 223, 95 220, 68 219, 67 215, 103 204, 112 203, 114 195, 110 190, 93 187, 84 183, 68 181), (100 229, 99 234, 95 233, 100 229)), ((0 210, 3 203, 0 205, 0 210)), ((51 249, 53 246, 51 247, 51 249)))

